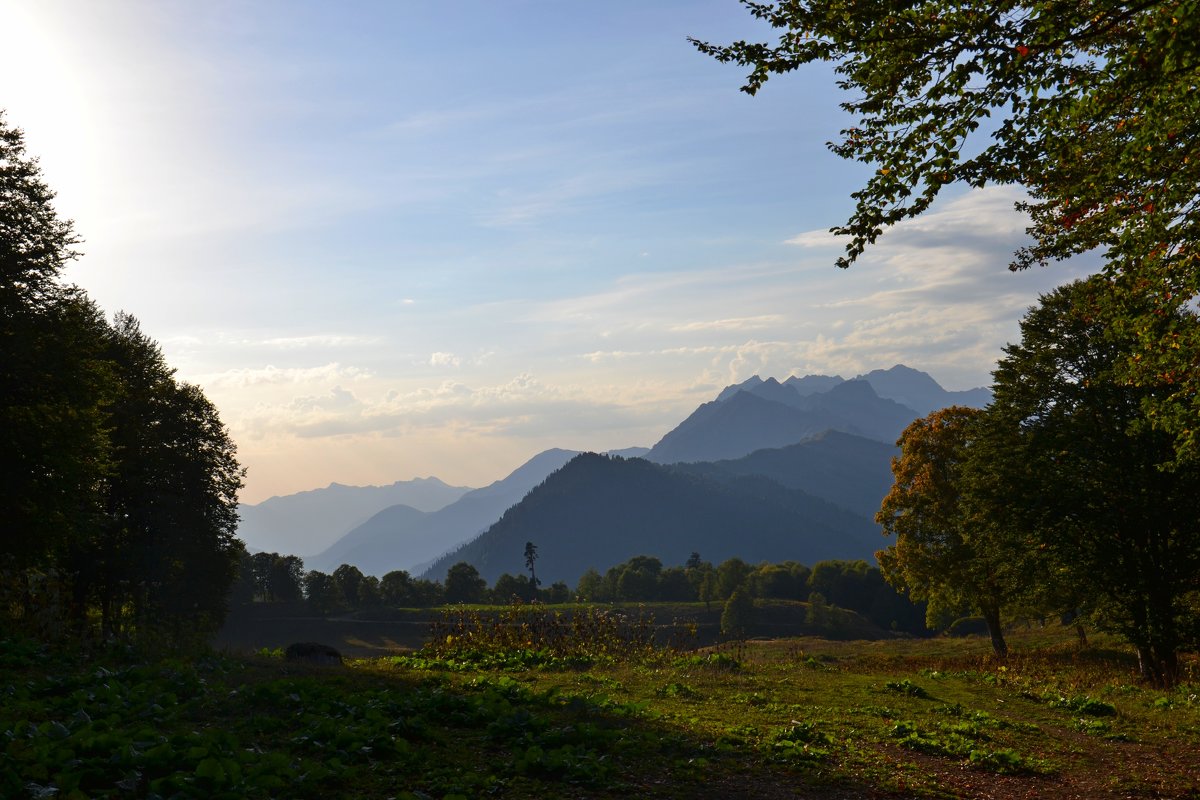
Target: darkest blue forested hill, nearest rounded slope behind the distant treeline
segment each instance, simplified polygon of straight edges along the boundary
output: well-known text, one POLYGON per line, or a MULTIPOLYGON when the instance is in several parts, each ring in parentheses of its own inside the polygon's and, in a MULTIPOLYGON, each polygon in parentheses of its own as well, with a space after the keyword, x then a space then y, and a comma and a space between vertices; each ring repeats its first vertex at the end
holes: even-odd
POLYGON ((683 564, 692 552, 718 563, 742 558, 871 559, 884 542, 866 518, 761 476, 701 475, 641 458, 577 456, 478 539, 436 561, 443 577, 467 561, 487 581, 524 571, 538 546, 538 577, 575 585, 589 567, 634 555, 683 564))

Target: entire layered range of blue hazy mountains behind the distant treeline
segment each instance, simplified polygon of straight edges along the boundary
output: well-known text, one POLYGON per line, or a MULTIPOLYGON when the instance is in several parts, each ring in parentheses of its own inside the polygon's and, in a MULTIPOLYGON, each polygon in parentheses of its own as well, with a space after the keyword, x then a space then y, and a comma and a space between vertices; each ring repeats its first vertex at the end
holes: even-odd
POLYGON ((850 380, 756 375, 726 387, 648 451, 551 450, 482 489, 422 486, 442 492, 425 505, 379 505, 383 495, 366 492, 371 504, 359 506, 356 524, 344 523, 343 510, 334 515, 338 533, 324 537, 304 528, 324 524, 313 507, 326 493, 348 497, 335 487, 354 487, 272 498, 244 509, 252 523, 244 539, 301 554, 292 542, 323 542, 305 561, 326 572, 344 563, 370 575, 403 569, 443 578, 466 560, 488 581, 523 571, 526 541, 539 546, 539 577, 569 583, 588 567, 602 571, 640 554, 666 564, 694 551, 714 561, 870 558, 886 545, 871 517, 892 485, 889 461, 904 427, 934 409, 990 398, 986 389, 947 391, 902 365, 850 380), (450 499, 436 505, 440 498, 450 499), (293 525, 290 540, 282 524, 263 535, 269 504, 271 519, 293 525))

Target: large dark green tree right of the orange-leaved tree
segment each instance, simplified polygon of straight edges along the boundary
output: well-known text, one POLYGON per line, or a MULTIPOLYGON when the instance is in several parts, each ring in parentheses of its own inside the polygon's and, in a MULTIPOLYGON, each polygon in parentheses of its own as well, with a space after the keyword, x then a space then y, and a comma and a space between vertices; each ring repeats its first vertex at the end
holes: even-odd
MULTIPOLYGON (((1170 686, 1198 624, 1200 469, 1175 462, 1170 434, 1147 419, 1174 386, 1122 375, 1136 343, 1114 324, 1108 283, 1062 287, 1021 321, 995 372, 992 435, 1006 446, 992 450, 994 469, 1031 476, 1009 510, 1028 533, 1018 546, 1136 648, 1147 680, 1170 686)), ((1158 324, 1188 331, 1200 319, 1180 311, 1158 324)))

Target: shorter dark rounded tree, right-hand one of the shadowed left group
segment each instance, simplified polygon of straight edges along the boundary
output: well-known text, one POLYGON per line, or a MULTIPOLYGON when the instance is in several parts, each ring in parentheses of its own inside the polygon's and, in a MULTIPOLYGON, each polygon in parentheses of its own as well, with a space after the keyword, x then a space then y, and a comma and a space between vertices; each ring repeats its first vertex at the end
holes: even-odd
POLYGON ((104 343, 120 386, 106 409, 113 465, 101 482, 102 523, 66 563, 104 632, 188 640, 215 631, 227 610, 245 470, 216 408, 175 380, 137 319, 118 314, 104 343))

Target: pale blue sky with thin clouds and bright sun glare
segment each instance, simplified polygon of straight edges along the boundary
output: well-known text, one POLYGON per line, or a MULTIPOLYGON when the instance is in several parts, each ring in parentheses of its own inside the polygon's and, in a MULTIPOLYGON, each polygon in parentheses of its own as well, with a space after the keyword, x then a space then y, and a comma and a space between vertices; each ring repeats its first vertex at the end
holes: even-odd
POLYGON ((906 363, 988 385, 1040 293, 1014 187, 850 270, 870 169, 832 68, 734 0, 7 0, 0 108, 85 240, 65 278, 217 405, 242 500, 650 446, 726 385, 906 363))

